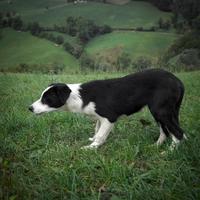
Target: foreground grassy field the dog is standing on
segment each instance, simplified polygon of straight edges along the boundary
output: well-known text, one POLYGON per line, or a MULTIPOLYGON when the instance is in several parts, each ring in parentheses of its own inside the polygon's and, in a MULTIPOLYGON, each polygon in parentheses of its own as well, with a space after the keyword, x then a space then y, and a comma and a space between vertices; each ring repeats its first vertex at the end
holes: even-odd
POLYGON ((177 74, 186 88, 180 117, 189 139, 173 153, 168 152, 170 140, 152 146, 159 130, 147 109, 120 119, 97 151, 80 149, 93 134, 89 118, 28 112, 51 82, 122 75, 0 74, 1 199, 200 198, 200 72, 177 74), (143 126, 140 119, 150 125, 143 126))

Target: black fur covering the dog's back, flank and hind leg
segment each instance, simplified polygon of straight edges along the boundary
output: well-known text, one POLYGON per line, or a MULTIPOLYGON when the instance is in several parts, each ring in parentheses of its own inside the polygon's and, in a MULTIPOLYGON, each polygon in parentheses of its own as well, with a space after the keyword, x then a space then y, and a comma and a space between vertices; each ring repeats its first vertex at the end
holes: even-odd
POLYGON ((166 135, 170 132, 179 140, 183 137, 178 115, 184 86, 167 71, 151 69, 123 78, 91 81, 81 85, 80 95, 83 107, 94 102, 97 114, 110 122, 148 106, 166 135))

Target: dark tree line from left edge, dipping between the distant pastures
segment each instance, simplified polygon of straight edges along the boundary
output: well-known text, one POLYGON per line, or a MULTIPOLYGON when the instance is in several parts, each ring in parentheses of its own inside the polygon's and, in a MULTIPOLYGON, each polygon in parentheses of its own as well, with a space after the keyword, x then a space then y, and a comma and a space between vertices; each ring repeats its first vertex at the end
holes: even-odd
POLYGON ((43 27, 38 22, 24 23, 21 17, 15 12, 0 13, 0 28, 11 27, 17 31, 30 31, 34 36, 45 38, 58 45, 63 45, 64 49, 79 58, 83 52, 85 44, 96 37, 110 33, 111 27, 108 25, 98 26, 92 20, 83 17, 68 17, 63 25, 54 25, 53 27, 43 27), (71 44, 64 42, 61 35, 55 36, 51 32, 59 32, 76 38, 77 43, 71 44))

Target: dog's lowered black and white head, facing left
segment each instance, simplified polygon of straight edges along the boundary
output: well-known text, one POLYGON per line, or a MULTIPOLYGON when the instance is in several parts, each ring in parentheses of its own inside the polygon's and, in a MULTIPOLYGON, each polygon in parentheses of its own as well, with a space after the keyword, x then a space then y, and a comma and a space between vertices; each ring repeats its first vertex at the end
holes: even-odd
POLYGON ((55 111, 65 105, 71 90, 64 83, 55 83, 47 87, 37 101, 35 101, 29 110, 35 114, 55 111))

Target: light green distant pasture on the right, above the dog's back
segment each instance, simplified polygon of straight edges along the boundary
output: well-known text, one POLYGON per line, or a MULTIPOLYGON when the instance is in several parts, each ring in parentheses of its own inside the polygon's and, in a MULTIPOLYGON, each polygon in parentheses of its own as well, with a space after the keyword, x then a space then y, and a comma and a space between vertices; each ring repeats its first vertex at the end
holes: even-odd
POLYGON ((93 56, 113 57, 125 51, 132 58, 156 58, 177 38, 176 34, 163 32, 113 32, 91 40, 85 50, 93 56))

